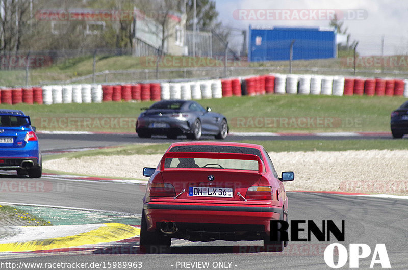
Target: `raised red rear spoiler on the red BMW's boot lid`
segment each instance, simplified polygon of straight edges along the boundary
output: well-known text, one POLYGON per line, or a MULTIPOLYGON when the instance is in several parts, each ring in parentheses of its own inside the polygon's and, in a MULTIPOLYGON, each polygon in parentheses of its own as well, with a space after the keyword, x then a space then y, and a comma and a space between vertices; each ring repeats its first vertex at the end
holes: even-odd
MULTIPOLYGON (((163 155, 160 161, 160 171, 168 170, 165 168, 166 158, 212 158, 212 159, 237 159, 237 160, 255 160, 258 161, 258 174, 264 171, 261 158, 252 154, 237 154, 237 153, 202 153, 202 152, 167 152, 163 155)), ((171 168, 174 169, 174 168, 171 168)))

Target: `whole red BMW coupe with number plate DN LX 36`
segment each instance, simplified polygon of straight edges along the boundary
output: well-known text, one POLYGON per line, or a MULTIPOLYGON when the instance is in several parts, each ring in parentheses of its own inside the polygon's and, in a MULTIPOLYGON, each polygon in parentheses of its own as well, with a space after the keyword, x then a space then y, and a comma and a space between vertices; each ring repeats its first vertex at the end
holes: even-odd
POLYGON ((150 177, 143 198, 140 248, 160 252, 171 238, 189 241, 263 240, 265 251, 282 251, 270 241, 270 221, 288 220, 288 198, 267 151, 233 142, 173 143, 150 177))

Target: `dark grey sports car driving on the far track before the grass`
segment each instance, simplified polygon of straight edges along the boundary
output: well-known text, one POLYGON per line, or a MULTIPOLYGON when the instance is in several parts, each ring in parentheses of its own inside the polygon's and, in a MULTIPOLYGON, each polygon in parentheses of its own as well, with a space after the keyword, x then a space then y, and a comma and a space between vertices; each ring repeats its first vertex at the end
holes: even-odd
POLYGON ((188 139, 198 140, 201 135, 214 135, 225 139, 228 123, 222 114, 204 109, 191 100, 162 100, 141 113, 136 122, 136 133, 140 138, 151 135, 166 135, 169 139, 185 134, 188 139))

